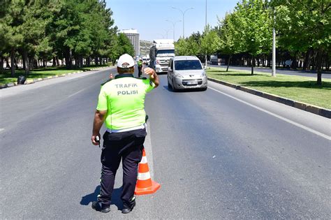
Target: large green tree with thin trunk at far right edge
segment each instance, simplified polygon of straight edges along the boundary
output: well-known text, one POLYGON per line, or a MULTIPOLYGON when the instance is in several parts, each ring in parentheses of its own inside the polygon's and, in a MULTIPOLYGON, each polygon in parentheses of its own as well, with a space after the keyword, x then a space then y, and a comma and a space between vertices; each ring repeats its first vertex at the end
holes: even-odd
POLYGON ((279 46, 290 52, 317 52, 317 84, 322 84, 322 57, 330 53, 330 0, 274 0, 279 46))

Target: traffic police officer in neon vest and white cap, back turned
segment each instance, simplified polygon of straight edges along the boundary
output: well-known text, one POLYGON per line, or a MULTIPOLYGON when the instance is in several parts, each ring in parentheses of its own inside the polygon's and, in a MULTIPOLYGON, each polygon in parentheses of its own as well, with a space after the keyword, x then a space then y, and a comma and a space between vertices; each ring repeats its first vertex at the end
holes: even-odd
POLYGON ((145 95, 159 85, 159 77, 152 68, 145 68, 147 78, 133 78, 133 58, 124 54, 117 61, 118 75, 106 82, 98 96, 94 115, 91 141, 99 145, 100 129, 105 122, 107 131, 103 135, 101 153, 101 191, 98 200, 92 203, 94 210, 110 211, 110 200, 114 189, 115 175, 122 159, 123 166, 123 210, 126 214, 135 206, 135 184, 138 163, 142 159, 145 141, 145 95))

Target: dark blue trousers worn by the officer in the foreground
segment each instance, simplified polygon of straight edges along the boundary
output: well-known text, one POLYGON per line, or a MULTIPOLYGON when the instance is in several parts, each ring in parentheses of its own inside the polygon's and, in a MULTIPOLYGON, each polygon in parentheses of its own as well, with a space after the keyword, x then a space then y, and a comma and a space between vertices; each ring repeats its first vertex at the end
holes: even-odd
POLYGON ((120 133, 105 132, 101 153, 101 190, 98 201, 110 205, 115 175, 122 160, 124 205, 130 205, 138 175, 138 163, 142 159, 142 148, 147 135, 145 129, 120 133))

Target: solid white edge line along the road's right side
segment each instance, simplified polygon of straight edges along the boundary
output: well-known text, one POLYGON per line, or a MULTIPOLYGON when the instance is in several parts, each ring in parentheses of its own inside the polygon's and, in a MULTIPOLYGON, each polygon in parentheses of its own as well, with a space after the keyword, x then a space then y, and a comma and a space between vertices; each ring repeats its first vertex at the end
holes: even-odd
POLYGON ((331 140, 331 137, 330 137, 329 135, 326 135, 325 133, 321 133, 321 132, 316 131, 316 130, 314 130, 314 129, 310 129, 310 128, 307 127, 307 126, 304 126, 304 125, 299 124, 299 123, 297 123, 297 122, 293 122, 293 121, 291 121, 290 119, 286 119, 285 117, 282 117, 282 116, 280 116, 280 115, 274 114, 274 113, 272 113, 272 112, 270 112, 270 111, 268 111, 268 110, 265 110, 265 109, 263 109, 263 108, 260 108, 260 107, 258 107, 258 106, 256 106, 256 105, 251 104, 251 103, 247 103, 246 101, 243 101, 243 100, 241 100, 240 98, 236 98, 236 97, 234 97, 234 96, 231 96, 231 95, 229 95, 229 94, 226 94, 226 93, 224 93, 223 91, 219 91, 219 90, 214 89, 214 88, 212 88, 212 87, 208 87, 208 88, 209 88, 209 89, 212 89, 212 90, 214 90, 214 91, 217 91, 217 92, 219 92, 220 94, 223 94, 223 95, 225 95, 225 96, 228 96, 228 97, 230 97, 230 98, 233 98, 233 99, 235 99, 235 100, 237 100, 237 101, 240 101, 240 102, 242 102, 242 103, 244 103, 244 104, 246 104, 246 105, 249 105, 249 106, 251 106, 251 107, 253 107, 253 108, 256 108, 256 109, 258 109, 258 110, 260 110, 260 111, 263 111, 263 112, 265 112, 265 113, 267 113, 267 114, 269 114, 269 115, 272 115, 272 116, 274 116, 274 117, 277 117, 277 118, 279 118, 279 119, 281 119, 281 120, 283 120, 283 121, 285 121, 285 122, 288 122, 288 123, 290 123, 290 124, 293 124, 293 125, 295 125, 295 126, 298 126, 298 127, 301 128, 301 129, 304 129, 304 130, 306 130, 306 131, 309 131, 309 132, 311 132, 311 133, 314 133, 314 134, 316 134, 316 135, 319 135, 319 136, 321 136, 322 138, 326 138, 326 139, 328 139, 328 140, 331 140))

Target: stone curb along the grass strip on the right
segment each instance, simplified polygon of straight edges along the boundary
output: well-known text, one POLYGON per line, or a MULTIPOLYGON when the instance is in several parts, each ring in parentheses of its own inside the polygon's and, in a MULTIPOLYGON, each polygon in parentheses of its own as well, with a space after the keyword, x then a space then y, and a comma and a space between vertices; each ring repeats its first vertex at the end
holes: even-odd
POLYGON ((331 110, 326 109, 326 108, 321 108, 321 107, 318 107, 316 105, 309 105, 307 103, 301 103, 299 101, 294 101, 292 99, 284 98, 284 97, 281 97, 281 96, 268 94, 266 92, 258 91, 256 89, 249 89, 247 87, 242 87, 240 85, 235 85, 235 84, 232 84, 230 82, 224 82, 224 81, 221 81, 221 80, 216 80, 214 78, 208 78, 208 80, 210 80, 212 82, 219 83, 221 85, 225 85, 227 87, 232 87, 233 89, 238 89, 238 90, 241 90, 241 91, 245 91, 245 92, 248 92, 248 93, 256 95, 256 96, 267 98, 267 99, 270 99, 272 101, 277 101, 278 103, 289 105, 291 107, 298 108, 300 110, 311 112, 311 113, 314 113, 316 115, 321 115, 323 117, 327 117, 327 118, 331 119, 331 110))

